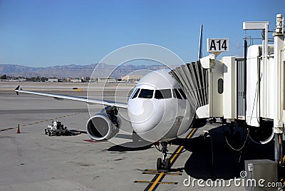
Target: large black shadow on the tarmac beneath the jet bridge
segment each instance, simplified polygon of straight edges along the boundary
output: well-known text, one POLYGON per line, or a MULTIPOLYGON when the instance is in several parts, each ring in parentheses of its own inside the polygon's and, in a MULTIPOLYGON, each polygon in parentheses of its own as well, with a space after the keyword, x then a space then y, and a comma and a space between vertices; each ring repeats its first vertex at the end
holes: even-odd
MULTIPOLYGON (((239 152, 227 145, 223 127, 209 130, 209 135, 207 138, 200 135, 190 140, 178 138, 172 143, 184 145, 186 150, 192 152, 185 163, 185 172, 191 177, 203 180, 229 180, 239 177, 239 173, 244 170, 244 160, 274 160, 273 141, 266 145, 257 145, 247 140, 244 149, 239 152)), ((229 139, 229 143, 238 149, 242 147, 244 140, 229 139)))

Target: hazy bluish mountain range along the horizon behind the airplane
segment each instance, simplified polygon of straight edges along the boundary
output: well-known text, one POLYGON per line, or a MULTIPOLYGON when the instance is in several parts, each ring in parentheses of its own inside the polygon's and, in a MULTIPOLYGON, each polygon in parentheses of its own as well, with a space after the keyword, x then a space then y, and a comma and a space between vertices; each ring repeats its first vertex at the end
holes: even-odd
MULTIPOLYGON (((20 66, 14 64, 0 64, 0 76, 16 76, 16 77, 46 77, 46 78, 81 78, 81 77, 89 77, 93 73, 94 68, 97 66, 97 63, 93 63, 90 65, 67 65, 67 66, 48 66, 48 67, 28 67, 28 66, 20 66)), ((101 63, 100 67, 96 68, 96 78, 108 77, 110 73, 110 69, 114 68, 114 66, 101 63)), ((123 65, 116 68, 116 70, 112 73, 112 77, 121 78, 122 76, 126 76, 129 73, 133 73, 134 71, 139 70, 158 70, 165 68, 162 65, 123 65)))

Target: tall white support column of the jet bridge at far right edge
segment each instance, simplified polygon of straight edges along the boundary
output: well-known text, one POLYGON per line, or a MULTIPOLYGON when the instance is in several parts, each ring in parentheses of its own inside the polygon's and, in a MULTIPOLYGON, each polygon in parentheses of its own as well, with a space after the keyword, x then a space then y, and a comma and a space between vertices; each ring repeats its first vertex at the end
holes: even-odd
POLYGON ((275 161, 281 167, 282 145, 284 133, 284 18, 276 15, 276 30, 274 31, 274 133, 275 161))

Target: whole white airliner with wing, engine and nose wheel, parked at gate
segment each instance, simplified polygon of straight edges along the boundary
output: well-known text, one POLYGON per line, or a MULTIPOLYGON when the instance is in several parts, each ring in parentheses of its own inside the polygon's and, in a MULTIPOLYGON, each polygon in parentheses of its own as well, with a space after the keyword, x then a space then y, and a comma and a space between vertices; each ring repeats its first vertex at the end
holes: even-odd
POLYGON ((120 130, 118 109, 127 109, 133 135, 142 140, 162 145, 162 158, 157 159, 157 170, 170 170, 167 158, 167 144, 183 135, 195 123, 195 112, 177 81, 170 75, 170 69, 147 73, 136 84, 128 103, 113 103, 76 96, 24 91, 18 86, 15 91, 58 100, 77 100, 88 104, 108 105, 93 115, 86 123, 86 131, 93 140, 109 140, 120 130))

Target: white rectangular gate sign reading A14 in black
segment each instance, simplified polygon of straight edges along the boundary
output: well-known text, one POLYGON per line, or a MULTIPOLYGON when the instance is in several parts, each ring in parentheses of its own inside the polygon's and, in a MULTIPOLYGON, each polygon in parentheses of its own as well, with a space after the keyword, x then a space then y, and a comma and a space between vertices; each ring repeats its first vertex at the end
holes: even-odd
POLYGON ((207 38, 207 52, 228 52, 229 38, 207 38))

